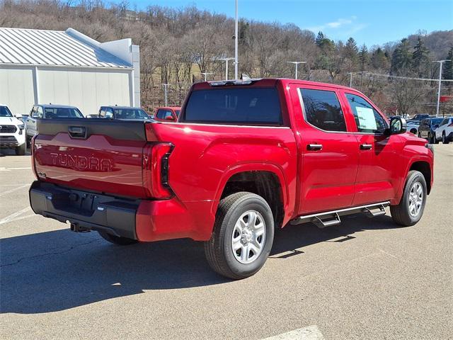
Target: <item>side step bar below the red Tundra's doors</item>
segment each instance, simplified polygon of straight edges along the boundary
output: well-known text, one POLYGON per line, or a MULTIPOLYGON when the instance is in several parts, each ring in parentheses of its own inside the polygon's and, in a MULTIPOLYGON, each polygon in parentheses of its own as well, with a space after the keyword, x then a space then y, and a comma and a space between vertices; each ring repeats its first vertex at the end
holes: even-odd
POLYGON ((356 214, 363 212, 367 217, 377 217, 385 215, 385 208, 390 205, 389 201, 373 203, 367 205, 360 205, 359 207, 345 208, 340 210, 331 210, 326 212, 319 212, 318 214, 304 215, 295 218, 289 223, 292 225, 300 225, 306 222, 312 222, 316 227, 325 228, 331 225, 339 225, 341 220, 340 216, 356 214))

